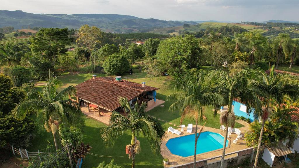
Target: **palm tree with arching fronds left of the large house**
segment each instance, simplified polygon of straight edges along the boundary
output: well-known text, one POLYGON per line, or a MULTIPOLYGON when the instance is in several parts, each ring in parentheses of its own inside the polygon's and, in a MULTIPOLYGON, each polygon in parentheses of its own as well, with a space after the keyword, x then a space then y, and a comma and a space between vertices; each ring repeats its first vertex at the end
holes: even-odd
POLYGON ((69 95, 74 95, 76 89, 69 86, 58 92, 57 88, 62 85, 62 82, 57 77, 51 77, 47 84, 39 92, 29 92, 28 100, 18 104, 13 109, 13 115, 16 119, 21 120, 26 114, 35 112, 38 116, 41 115, 45 122, 45 129, 52 132, 56 149, 59 148, 56 140, 56 132, 60 122, 74 124, 77 116, 82 115, 80 106, 68 98, 69 95))

